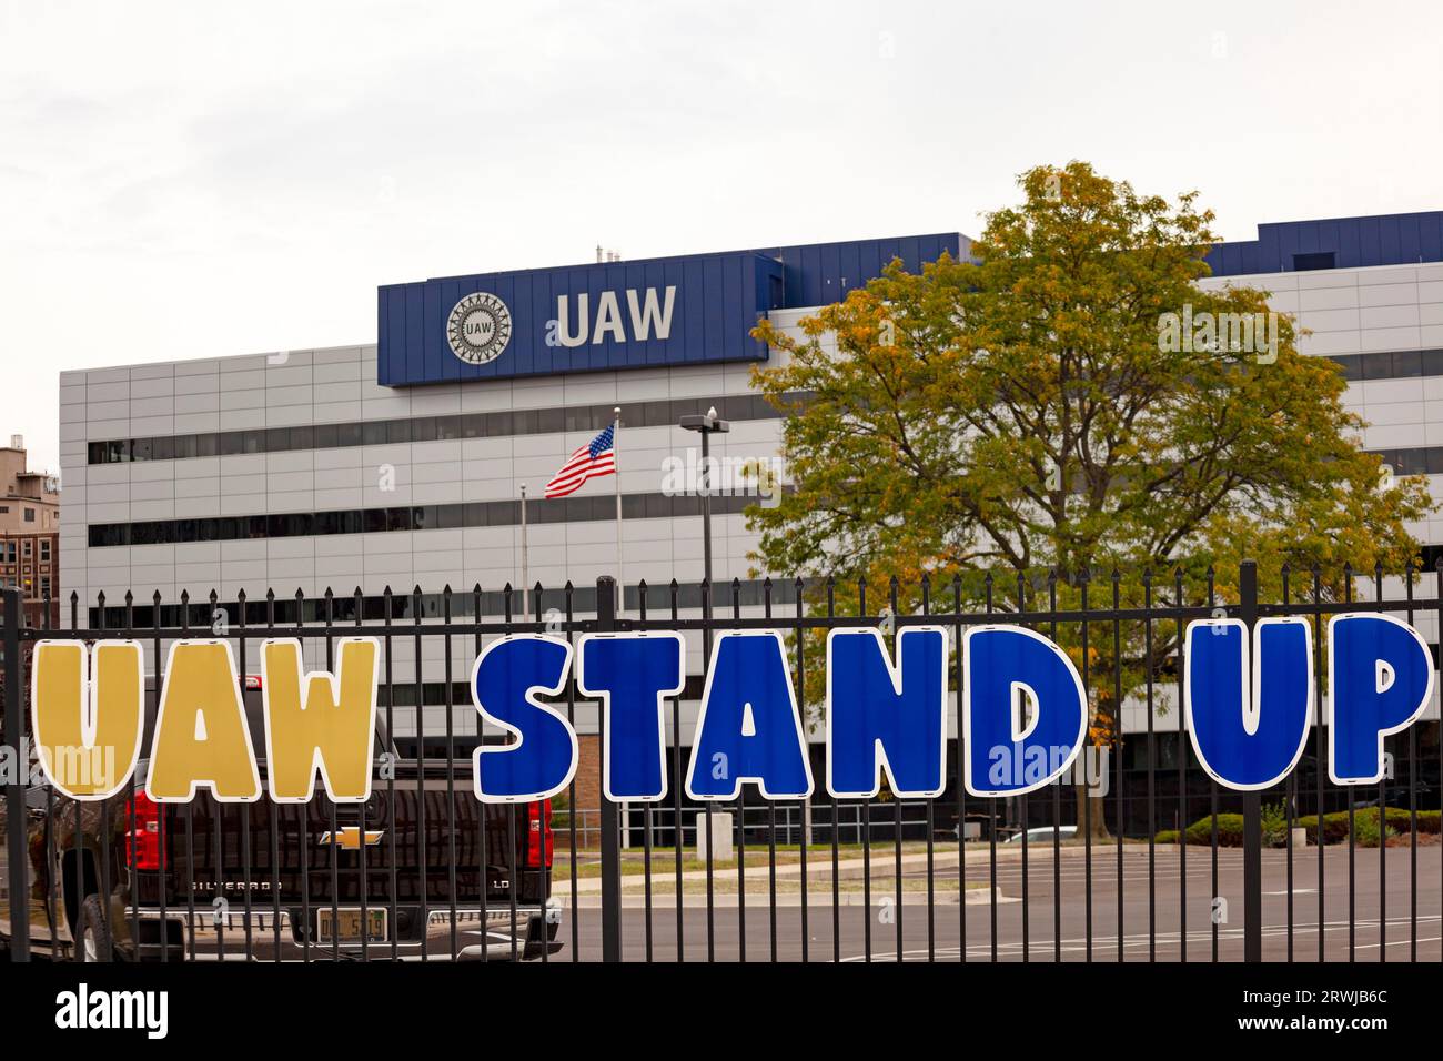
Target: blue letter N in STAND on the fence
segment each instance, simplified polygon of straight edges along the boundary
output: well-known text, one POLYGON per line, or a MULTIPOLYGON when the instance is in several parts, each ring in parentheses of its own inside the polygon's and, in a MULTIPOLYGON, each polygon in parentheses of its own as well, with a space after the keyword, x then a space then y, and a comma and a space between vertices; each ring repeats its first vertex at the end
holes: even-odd
POLYGON ((835 797, 876 795, 882 769, 896 795, 924 800, 947 787, 947 631, 902 629, 898 661, 893 668, 880 631, 827 635, 827 791, 835 797))

